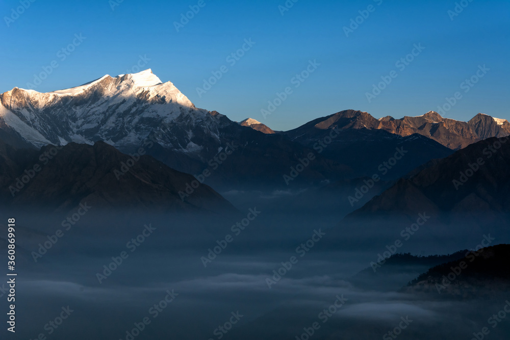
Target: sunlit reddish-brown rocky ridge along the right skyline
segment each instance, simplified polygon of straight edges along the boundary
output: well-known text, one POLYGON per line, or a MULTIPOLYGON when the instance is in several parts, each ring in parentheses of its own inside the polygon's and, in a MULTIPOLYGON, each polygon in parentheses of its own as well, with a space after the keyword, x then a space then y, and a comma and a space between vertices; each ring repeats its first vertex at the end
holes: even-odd
POLYGON ((304 128, 315 126, 326 129, 336 126, 339 129, 380 129, 399 136, 420 134, 426 138, 450 148, 460 149, 489 137, 505 137, 510 135, 510 123, 484 114, 478 114, 469 122, 443 118, 437 112, 427 112, 418 117, 405 116, 395 119, 387 116, 375 119, 367 112, 346 110, 336 114, 315 119, 288 133, 298 136, 304 128))

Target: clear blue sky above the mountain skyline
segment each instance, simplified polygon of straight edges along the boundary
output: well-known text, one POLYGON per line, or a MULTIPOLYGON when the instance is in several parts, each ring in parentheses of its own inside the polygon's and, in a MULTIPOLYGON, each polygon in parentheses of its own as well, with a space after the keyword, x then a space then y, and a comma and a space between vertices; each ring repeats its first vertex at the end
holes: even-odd
POLYGON ((447 117, 468 120, 482 112, 510 119, 510 2, 465 0, 469 5, 451 20, 456 1, 299 0, 282 15, 278 6, 285 0, 205 0, 177 32, 173 22, 198 0, 124 0, 114 10, 108 0, 36 0, 9 27, 5 17, 21 5, 7 0, 0 5, 0 92, 27 88, 54 60, 59 66, 37 91, 126 73, 146 55, 143 68, 174 83, 197 107, 237 121, 252 117, 274 129, 345 109, 376 118, 421 115, 438 111, 456 91, 463 97, 447 117), (374 11, 346 37, 343 27, 369 5, 374 11), (86 39, 61 61, 58 51, 80 33, 86 39), (256 44, 230 66, 226 57, 249 38, 256 44), (425 49, 400 71, 396 61, 415 43, 425 49), (291 79, 309 60, 321 65, 295 88, 291 79), (461 83, 484 64, 490 71, 465 93, 461 83), (222 65, 228 72, 199 97, 196 88, 222 65), (392 70, 397 77, 369 103, 366 93, 392 70), (287 86, 293 93, 264 118, 261 109, 287 86))

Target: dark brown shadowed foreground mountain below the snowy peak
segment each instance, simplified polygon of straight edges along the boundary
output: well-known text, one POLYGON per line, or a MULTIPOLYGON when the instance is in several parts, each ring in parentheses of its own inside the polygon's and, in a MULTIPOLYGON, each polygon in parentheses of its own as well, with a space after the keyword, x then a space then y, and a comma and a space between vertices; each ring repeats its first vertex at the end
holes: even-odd
POLYGON ((40 151, 0 144, 3 204, 64 210, 80 203, 162 211, 233 211, 206 185, 181 199, 195 178, 147 155, 126 155, 104 142, 48 145, 40 151))

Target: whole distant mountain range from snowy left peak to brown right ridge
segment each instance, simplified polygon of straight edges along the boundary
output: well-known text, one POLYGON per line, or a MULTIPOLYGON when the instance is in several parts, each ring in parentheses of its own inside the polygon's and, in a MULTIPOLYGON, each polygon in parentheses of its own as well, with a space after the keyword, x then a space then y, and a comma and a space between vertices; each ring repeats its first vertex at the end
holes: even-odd
MULTIPOLYGON (((375 119, 354 110, 318 118, 286 132, 274 131, 251 118, 237 123, 216 111, 198 109, 150 69, 105 75, 48 93, 15 87, 0 94, 0 140, 6 150, 2 171, 11 177, 16 175, 13 169, 24 170, 34 163, 34 152, 40 154, 47 145, 73 150, 62 152, 68 154, 68 162, 77 162, 73 171, 82 171, 79 165, 87 166, 74 159, 73 152, 90 157, 94 154, 94 158, 99 152, 120 160, 143 148, 155 159, 144 157, 137 163, 136 169, 146 174, 148 169, 142 168, 159 161, 168 167, 165 173, 202 176, 218 190, 298 189, 376 174, 397 180, 432 160, 447 158, 454 150, 509 134, 508 121, 483 114, 460 122, 436 112, 375 119), (148 143, 150 148, 145 147, 148 143), (13 156, 14 150, 23 150, 17 153, 24 155, 13 156), (400 156, 403 161, 396 161, 400 156)), ((71 167, 71 163, 65 166, 71 167)), ((100 166, 114 169, 112 164, 100 166)), ((165 176, 151 175, 156 182, 165 176)), ((140 177, 134 175, 133 179, 140 177)), ((41 177, 39 189, 45 180, 49 177, 41 177)), ((186 182, 166 193, 183 191, 186 182)), ((32 195, 37 196, 35 192, 32 195)))

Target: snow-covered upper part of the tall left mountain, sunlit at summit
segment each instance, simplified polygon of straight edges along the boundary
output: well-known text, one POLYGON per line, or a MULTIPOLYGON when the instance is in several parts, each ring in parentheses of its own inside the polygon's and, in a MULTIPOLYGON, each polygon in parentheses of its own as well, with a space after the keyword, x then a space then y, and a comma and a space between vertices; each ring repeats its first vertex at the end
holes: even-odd
POLYGON ((150 69, 48 93, 15 87, 0 94, 2 133, 34 147, 101 140, 130 150, 150 138, 165 148, 196 153, 202 145, 193 141, 195 134, 200 141, 219 141, 220 117, 197 109, 150 69))

